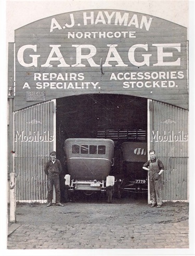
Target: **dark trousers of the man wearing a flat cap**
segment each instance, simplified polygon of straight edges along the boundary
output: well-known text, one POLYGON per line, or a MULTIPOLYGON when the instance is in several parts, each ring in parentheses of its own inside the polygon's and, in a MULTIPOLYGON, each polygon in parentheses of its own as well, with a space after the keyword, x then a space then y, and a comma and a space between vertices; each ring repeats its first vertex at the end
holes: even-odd
POLYGON ((56 203, 60 202, 60 179, 58 173, 49 173, 47 176, 47 201, 52 202, 53 186, 56 191, 56 203))

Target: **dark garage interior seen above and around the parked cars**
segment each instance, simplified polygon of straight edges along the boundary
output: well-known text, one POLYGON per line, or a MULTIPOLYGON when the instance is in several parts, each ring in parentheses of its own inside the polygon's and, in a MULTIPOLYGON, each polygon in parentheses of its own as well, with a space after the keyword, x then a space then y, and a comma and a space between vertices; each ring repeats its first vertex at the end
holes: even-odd
MULTIPOLYGON (((126 173, 123 173, 121 145, 123 142, 147 143, 147 99, 119 94, 85 94, 58 98, 56 107, 56 150, 63 168, 61 201, 64 201, 64 175, 68 173, 63 150, 67 138, 113 139, 115 149, 111 175, 127 179, 126 164, 126 173)), ((139 169, 140 166, 139 163, 139 169)))

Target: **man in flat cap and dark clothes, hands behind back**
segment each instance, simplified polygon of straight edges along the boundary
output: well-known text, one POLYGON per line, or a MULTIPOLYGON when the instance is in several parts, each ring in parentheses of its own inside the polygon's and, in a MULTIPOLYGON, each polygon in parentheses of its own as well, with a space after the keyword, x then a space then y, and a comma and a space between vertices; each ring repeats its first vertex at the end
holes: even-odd
POLYGON ((62 171, 60 160, 56 159, 56 151, 50 152, 51 159, 46 163, 44 172, 47 175, 47 207, 52 206, 53 186, 56 190, 56 206, 64 206, 60 203, 60 179, 62 171))

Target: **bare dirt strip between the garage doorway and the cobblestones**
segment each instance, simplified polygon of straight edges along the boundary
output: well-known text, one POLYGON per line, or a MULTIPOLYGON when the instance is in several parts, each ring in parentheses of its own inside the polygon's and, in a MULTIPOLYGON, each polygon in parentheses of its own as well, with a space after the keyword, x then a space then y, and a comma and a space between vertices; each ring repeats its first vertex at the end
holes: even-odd
POLYGON ((150 208, 147 198, 125 196, 107 198, 76 195, 64 207, 55 204, 46 207, 45 203, 17 203, 17 223, 58 223, 71 224, 158 224, 176 223, 188 220, 189 203, 164 202, 161 208, 150 208), (33 213, 33 214, 32 214, 33 213))

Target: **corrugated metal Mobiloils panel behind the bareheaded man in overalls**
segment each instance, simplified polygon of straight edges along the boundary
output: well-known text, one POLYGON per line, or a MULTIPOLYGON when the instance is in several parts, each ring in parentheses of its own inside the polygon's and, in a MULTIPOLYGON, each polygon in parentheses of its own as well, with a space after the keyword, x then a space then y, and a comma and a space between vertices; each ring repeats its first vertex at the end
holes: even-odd
POLYGON ((163 200, 188 200, 188 111, 149 100, 150 149, 162 160, 163 200))

